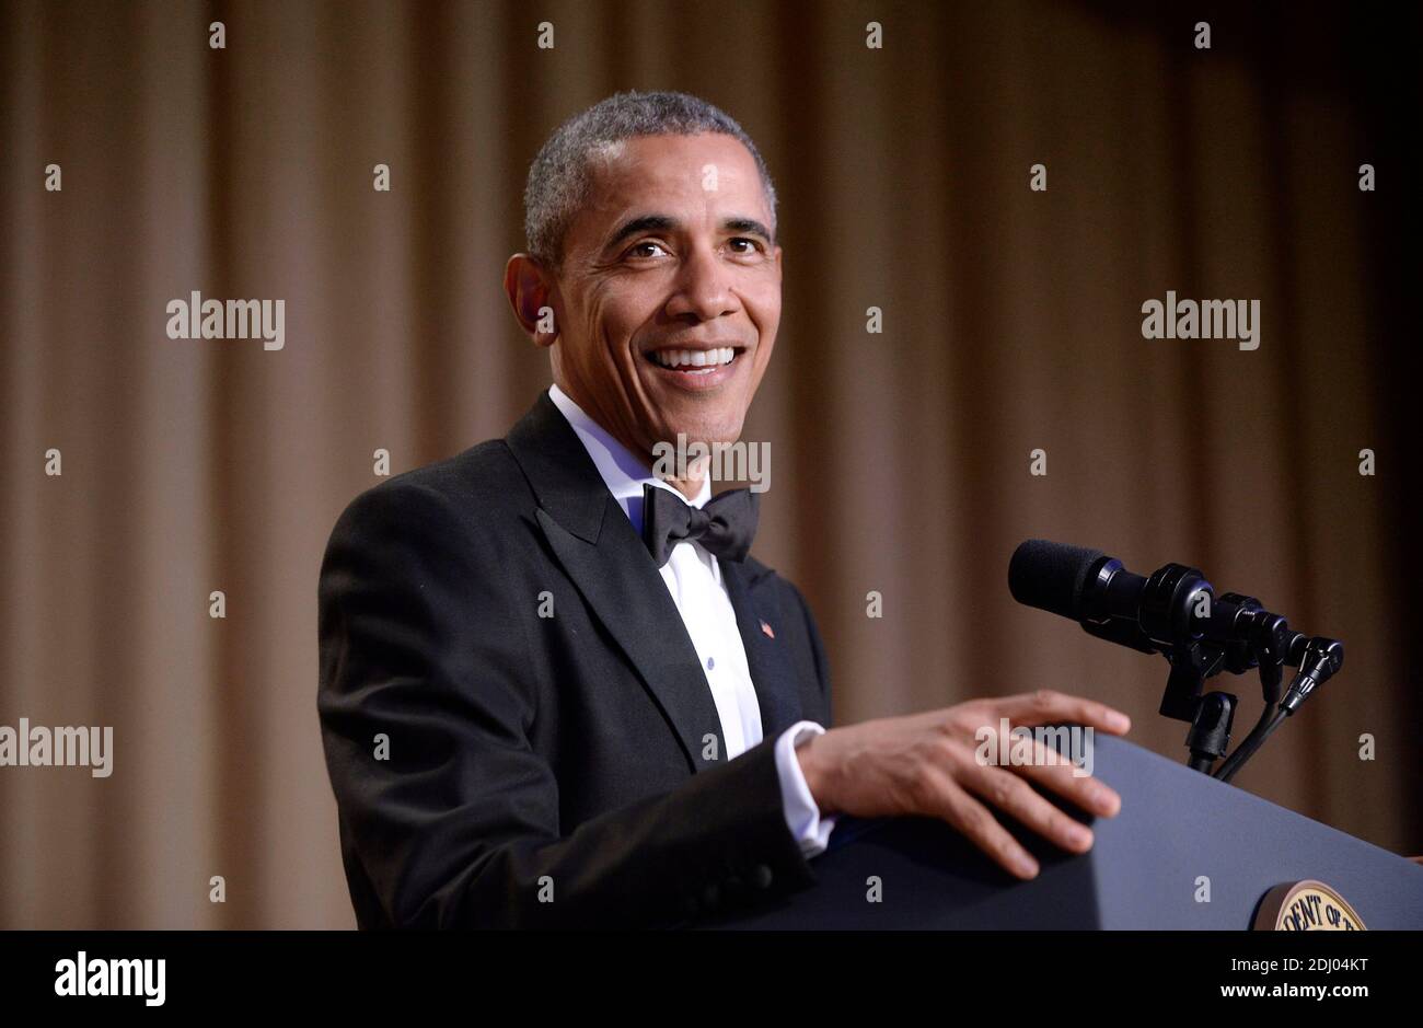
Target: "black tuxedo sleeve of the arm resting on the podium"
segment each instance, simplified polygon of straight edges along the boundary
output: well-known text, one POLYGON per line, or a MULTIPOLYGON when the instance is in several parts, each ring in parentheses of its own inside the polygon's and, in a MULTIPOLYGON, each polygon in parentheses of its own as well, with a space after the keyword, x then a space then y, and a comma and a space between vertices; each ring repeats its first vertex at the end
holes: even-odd
POLYGON ((357 497, 319 604, 347 874, 354 856, 383 924, 657 927, 814 883, 774 739, 561 833, 558 780, 529 743, 527 628, 492 540, 441 491, 393 480, 357 497))

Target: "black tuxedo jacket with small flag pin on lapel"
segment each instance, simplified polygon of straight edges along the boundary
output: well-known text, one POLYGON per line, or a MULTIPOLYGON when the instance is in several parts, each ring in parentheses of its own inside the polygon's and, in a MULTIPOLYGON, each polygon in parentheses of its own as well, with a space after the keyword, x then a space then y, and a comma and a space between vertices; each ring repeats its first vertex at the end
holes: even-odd
POLYGON ((507 439, 359 495, 322 565, 317 695, 359 924, 672 925, 813 884, 773 745, 830 725, 824 648, 794 585, 721 571, 764 729, 734 760, 546 392, 507 439))

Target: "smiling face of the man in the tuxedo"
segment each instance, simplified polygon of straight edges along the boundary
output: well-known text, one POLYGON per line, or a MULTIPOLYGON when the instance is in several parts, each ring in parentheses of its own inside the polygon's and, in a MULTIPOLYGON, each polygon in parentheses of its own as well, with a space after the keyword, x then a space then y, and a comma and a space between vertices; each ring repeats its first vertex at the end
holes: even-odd
POLYGON ((643 457, 731 443, 771 359, 781 251, 734 137, 645 135, 592 159, 552 290, 554 380, 643 457))

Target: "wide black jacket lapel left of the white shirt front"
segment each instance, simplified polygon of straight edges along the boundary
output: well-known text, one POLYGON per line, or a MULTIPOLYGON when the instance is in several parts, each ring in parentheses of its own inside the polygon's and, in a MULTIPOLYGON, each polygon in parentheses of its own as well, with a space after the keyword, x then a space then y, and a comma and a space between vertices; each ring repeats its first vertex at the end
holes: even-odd
POLYGON ((716 736, 714 753, 724 759, 721 719, 682 615, 546 390, 505 441, 538 497, 536 520, 559 564, 636 668, 693 770, 714 766, 706 736, 716 736))

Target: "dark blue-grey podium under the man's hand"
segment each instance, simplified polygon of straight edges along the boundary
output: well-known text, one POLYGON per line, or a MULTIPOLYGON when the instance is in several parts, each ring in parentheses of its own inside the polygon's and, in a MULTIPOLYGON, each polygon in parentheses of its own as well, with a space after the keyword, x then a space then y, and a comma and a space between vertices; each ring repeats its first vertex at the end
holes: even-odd
MULTIPOLYGON (((1423 866, 1302 817, 1185 765, 1099 733, 1094 776, 1121 794, 1093 819, 1096 841, 1069 854, 1010 819, 1039 860, 1013 878, 949 824, 842 817, 811 861, 818 883, 774 906, 703 923, 716 928, 1210 928, 1254 924, 1282 883, 1318 880, 1365 927, 1423 928, 1423 866), (868 896, 878 881, 879 901, 868 896), (1205 896, 1208 880, 1210 901, 1205 896)), ((1056 800, 1054 793, 1043 793, 1056 800)))

